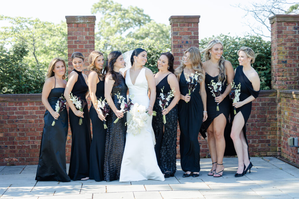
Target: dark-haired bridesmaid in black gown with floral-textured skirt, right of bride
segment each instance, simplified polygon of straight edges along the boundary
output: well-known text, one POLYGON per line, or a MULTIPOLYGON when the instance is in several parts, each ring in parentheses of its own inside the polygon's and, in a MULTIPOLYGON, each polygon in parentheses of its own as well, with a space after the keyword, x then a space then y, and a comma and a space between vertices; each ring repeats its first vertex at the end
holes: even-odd
POLYGON ((176 75, 173 74, 173 61, 174 57, 171 53, 162 53, 157 64, 159 72, 155 74, 156 97, 160 97, 163 88, 164 96, 174 89, 174 97, 168 102, 167 108, 161 110, 160 100, 156 98, 153 109, 158 113, 152 118, 152 128, 156 138, 155 152, 164 178, 173 177, 176 172, 177 103, 180 100, 180 90, 176 75), (163 115, 166 117, 166 124, 163 123, 163 115))

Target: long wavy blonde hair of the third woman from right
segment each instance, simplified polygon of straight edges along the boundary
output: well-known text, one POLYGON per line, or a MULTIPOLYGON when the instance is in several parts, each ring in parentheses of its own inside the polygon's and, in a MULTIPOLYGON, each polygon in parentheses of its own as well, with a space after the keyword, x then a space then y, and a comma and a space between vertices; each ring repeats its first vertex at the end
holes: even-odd
MULTIPOLYGON (((184 56, 186 55, 187 52, 190 53, 190 56, 188 59, 190 60, 190 62, 192 64, 193 70, 195 70, 196 72, 199 73, 197 82, 200 83, 205 79, 205 74, 203 74, 203 69, 202 69, 202 60, 201 60, 201 56, 200 56, 200 51, 196 47, 190 47, 184 52, 184 56)), ((184 64, 184 59, 182 58, 181 65, 179 67, 177 67, 176 70, 174 71, 174 74, 176 75, 176 77, 178 77, 178 75, 180 75, 183 72, 183 69, 185 67, 186 67, 186 65, 184 64)))

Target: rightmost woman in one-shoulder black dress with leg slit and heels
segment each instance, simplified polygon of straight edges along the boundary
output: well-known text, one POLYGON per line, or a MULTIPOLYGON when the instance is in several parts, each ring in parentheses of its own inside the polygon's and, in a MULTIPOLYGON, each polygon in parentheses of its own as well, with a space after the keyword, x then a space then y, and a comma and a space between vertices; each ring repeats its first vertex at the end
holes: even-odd
POLYGON ((252 101, 260 92, 260 78, 251 64, 254 63, 254 51, 249 47, 241 47, 238 51, 239 66, 235 69, 234 83, 241 84, 240 101, 233 103, 237 114, 232 118, 231 138, 238 156, 238 170, 235 177, 241 177, 252 167, 249 161, 246 123, 250 116, 252 101))

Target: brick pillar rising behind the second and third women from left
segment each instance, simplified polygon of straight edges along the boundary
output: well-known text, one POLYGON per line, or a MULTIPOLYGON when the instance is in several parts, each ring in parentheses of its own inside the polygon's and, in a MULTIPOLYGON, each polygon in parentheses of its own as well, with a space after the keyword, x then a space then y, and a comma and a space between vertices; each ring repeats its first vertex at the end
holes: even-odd
MULTIPOLYGON (((88 66, 87 57, 94 51, 94 24, 95 16, 65 16, 68 24, 68 74, 74 69, 71 55, 80 52, 85 57, 85 66, 88 66)), ((89 71, 83 70, 87 75, 89 71)))

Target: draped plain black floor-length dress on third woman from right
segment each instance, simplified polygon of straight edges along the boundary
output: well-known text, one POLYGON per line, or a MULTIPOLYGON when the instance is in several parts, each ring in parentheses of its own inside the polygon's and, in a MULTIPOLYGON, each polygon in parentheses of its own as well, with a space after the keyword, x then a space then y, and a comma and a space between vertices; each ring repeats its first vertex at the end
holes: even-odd
MULTIPOLYGON (((179 86, 182 95, 189 92, 184 72, 181 73, 179 86)), ((199 172, 200 170, 198 134, 202 125, 203 103, 199 88, 200 84, 197 83, 194 92, 190 95, 190 101, 186 103, 181 99, 178 104, 181 167, 184 172, 199 172)))

